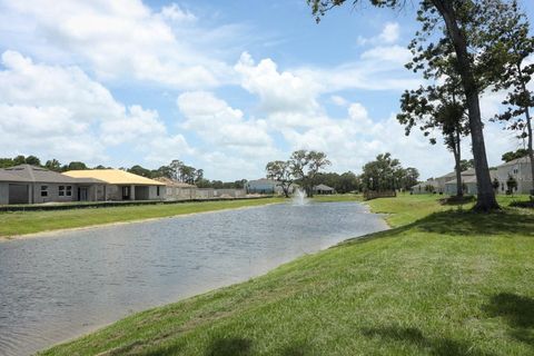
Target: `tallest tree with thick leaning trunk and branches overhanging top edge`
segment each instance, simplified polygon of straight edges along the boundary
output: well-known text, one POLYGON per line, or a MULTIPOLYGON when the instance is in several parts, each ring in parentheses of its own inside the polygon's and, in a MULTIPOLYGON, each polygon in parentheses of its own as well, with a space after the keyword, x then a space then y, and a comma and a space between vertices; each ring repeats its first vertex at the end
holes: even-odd
MULTIPOLYGON (((342 6, 346 0, 307 0, 312 6, 313 13, 317 21, 328 10, 342 6)), ((451 42, 456 55, 456 71, 461 78, 463 91, 468 109, 468 123, 472 137, 472 150, 475 159, 475 170, 477 176, 477 201, 475 210, 491 211, 498 209, 495 191, 492 187, 490 169, 487 166, 486 148, 484 144, 484 134, 481 118, 479 88, 475 79, 475 56, 478 48, 468 50, 468 34, 476 31, 479 26, 487 22, 485 19, 482 24, 477 22, 476 11, 483 0, 471 1, 451 1, 451 0, 421 0, 417 11, 417 21, 422 22, 422 30, 416 33, 419 47, 423 50, 423 43, 433 39, 429 36, 434 30, 441 30, 451 42), (443 20, 443 22, 441 21, 443 20), (444 26, 443 26, 444 23, 444 26)), ((357 3, 358 0, 352 0, 357 3)), ((376 7, 398 8, 404 4, 404 0, 369 0, 376 7)), ((435 44, 431 42, 426 50, 432 50, 435 44)))

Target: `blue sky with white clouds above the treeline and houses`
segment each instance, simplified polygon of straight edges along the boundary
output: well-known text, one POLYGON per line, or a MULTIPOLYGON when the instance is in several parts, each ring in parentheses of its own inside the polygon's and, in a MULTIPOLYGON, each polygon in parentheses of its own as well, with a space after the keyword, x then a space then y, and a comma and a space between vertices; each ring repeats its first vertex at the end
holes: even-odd
MULTIPOLYGON (((395 118, 422 83, 404 68, 414 12, 345 6, 317 24, 305 0, 0 0, 0 157, 179 159, 230 181, 297 149, 356 174, 389 151, 422 178, 446 174, 452 154, 395 118)), ((481 100, 487 121, 502 95, 481 100)), ((485 138, 491 166, 522 147, 496 123, 485 138)))

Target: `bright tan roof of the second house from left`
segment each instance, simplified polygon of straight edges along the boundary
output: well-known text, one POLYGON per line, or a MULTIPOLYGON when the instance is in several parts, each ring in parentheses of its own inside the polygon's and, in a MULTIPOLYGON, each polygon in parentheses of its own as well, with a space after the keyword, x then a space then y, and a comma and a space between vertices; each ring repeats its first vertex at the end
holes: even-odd
POLYGON ((63 175, 72 178, 98 179, 109 185, 165 186, 157 180, 134 175, 120 169, 69 170, 63 172, 63 175))

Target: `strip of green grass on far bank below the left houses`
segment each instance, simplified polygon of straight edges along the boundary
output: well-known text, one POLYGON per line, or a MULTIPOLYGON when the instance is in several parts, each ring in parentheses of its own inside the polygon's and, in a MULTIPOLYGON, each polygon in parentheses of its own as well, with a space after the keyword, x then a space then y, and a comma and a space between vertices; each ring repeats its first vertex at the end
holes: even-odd
POLYGON ((278 198, 0 212, 0 237, 279 202, 278 198))

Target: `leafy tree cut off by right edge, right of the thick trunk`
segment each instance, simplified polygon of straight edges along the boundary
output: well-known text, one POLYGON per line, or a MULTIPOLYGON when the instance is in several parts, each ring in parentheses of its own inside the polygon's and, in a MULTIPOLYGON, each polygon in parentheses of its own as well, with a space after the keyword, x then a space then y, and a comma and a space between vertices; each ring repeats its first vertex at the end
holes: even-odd
MULTIPOLYGON (((526 154, 531 160, 532 176, 534 177, 533 125, 531 108, 534 107, 534 92, 528 90, 528 83, 534 73, 534 63, 527 59, 534 53, 534 37, 530 34, 530 23, 526 14, 521 11, 517 1, 488 1, 485 11, 492 21, 479 36, 482 41, 488 42, 492 68, 504 66, 504 73, 496 70, 492 79, 495 81, 495 91, 507 90, 503 105, 507 110, 497 115, 496 119, 507 123, 507 128, 518 131, 518 138, 527 139, 526 154), (496 16, 495 13, 498 13, 496 16), (497 62, 497 66, 495 66, 497 62)), ((534 180, 533 186, 534 189, 534 180)))

